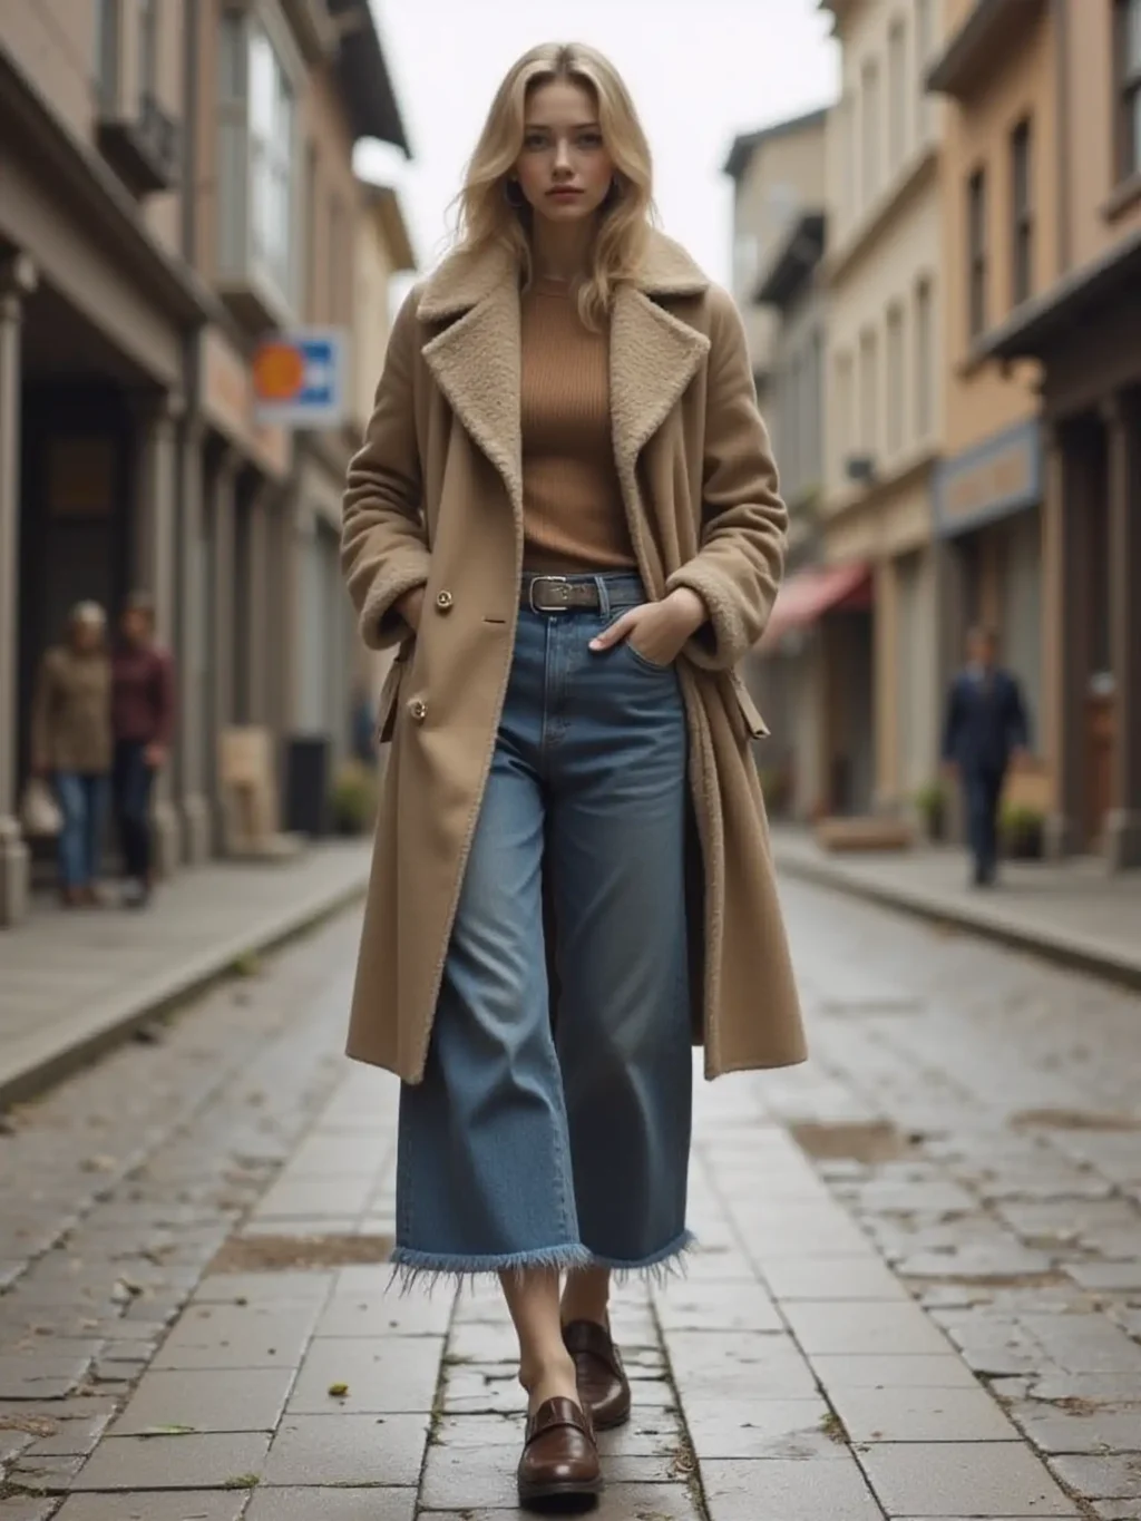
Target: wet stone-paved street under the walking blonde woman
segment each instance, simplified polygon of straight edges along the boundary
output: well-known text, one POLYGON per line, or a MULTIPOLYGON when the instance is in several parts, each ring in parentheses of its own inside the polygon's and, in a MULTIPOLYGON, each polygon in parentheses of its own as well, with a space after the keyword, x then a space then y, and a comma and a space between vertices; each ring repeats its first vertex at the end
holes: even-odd
MULTIPOLYGON (((1141 998, 785 884, 812 1062, 698 1083, 599 1521, 1141 1516, 1141 998)), ((491 1285, 385 1293, 356 919, 0 1135, 0 1521, 505 1521, 491 1285)))

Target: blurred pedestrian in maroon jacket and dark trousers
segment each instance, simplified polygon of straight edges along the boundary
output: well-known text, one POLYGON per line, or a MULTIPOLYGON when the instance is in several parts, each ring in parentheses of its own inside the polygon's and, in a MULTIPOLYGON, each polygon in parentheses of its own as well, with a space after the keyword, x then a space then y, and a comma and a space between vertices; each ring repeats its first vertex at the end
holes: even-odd
POLYGON ((111 660, 114 803, 123 849, 123 902, 141 908, 151 896, 151 788, 166 764, 175 721, 173 660, 155 645, 154 602, 128 598, 111 660))

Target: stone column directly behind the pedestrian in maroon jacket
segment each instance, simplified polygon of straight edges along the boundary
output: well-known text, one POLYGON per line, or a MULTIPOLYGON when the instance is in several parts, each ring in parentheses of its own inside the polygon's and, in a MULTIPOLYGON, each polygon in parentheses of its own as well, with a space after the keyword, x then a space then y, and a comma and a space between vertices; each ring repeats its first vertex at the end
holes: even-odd
MULTIPOLYGON (((175 429, 180 414, 180 399, 167 392, 157 399, 148 397, 135 408, 138 432, 131 580, 132 590, 148 592, 154 598, 155 639, 167 649, 175 648, 176 624, 175 429)), ((170 876, 181 856, 181 827, 173 803, 172 760, 173 756, 155 777, 151 805, 154 870, 160 878, 170 876)))

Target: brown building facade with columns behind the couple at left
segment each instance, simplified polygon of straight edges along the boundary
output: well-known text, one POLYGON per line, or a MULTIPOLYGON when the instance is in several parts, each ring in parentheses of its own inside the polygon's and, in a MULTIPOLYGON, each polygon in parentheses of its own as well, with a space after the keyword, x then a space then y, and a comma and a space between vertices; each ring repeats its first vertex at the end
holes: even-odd
MULTIPOLYGON (((234 724, 347 732, 307 710, 298 666, 306 535, 359 420, 260 426, 253 356, 301 322, 351 325, 361 137, 406 149, 365 0, 3 8, 0 923, 26 905, 35 671, 78 599, 151 592, 178 659, 161 872, 225 843, 234 724)), ((315 642, 324 689, 347 645, 315 642)))

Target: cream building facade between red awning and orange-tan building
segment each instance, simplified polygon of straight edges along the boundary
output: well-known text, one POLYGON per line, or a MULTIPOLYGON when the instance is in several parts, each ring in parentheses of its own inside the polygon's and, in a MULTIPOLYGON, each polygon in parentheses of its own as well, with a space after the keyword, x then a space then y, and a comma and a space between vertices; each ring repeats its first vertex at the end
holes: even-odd
POLYGON ((822 545, 846 575, 828 649, 835 812, 910 808, 937 767, 942 0, 822 0, 841 46, 828 128, 828 440, 822 545), (863 605, 852 605, 864 580, 863 605))

